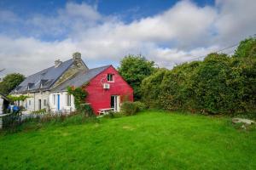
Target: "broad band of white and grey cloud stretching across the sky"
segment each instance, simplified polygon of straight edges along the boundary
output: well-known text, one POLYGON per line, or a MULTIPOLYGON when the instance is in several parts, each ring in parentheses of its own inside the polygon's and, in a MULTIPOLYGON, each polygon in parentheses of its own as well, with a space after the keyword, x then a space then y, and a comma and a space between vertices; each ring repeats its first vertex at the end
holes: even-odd
MULTIPOLYGON (((217 1, 213 7, 182 1, 128 24, 118 16, 102 15, 96 6, 86 3, 67 3, 55 16, 34 14, 27 20, 5 12, 32 28, 27 30, 29 37, 0 37, 0 68, 29 75, 52 65, 57 58, 70 58, 75 51, 82 53, 90 67, 104 62, 117 65, 126 54, 143 54, 160 66, 170 67, 256 33, 254 8, 253 0, 247 4, 217 1), (56 37, 58 41, 40 37, 56 37)), ((3 18, 0 16, 0 22, 3 18)))

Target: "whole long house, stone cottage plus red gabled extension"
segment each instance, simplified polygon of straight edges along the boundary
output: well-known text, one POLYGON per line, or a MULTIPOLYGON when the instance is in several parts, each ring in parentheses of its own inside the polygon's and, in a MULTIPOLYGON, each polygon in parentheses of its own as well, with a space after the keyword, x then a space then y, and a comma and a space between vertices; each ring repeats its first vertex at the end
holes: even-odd
POLYGON ((100 109, 113 108, 119 111, 125 100, 133 100, 133 90, 120 77, 112 65, 88 69, 79 53, 65 62, 55 61, 55 65, 27 77, 11 92, 12 95, 26 95, 20 101, 26 111, 75 111, 73 95, 67 87, 83 87, 88 92, 86 99, 95 113, 100 109))

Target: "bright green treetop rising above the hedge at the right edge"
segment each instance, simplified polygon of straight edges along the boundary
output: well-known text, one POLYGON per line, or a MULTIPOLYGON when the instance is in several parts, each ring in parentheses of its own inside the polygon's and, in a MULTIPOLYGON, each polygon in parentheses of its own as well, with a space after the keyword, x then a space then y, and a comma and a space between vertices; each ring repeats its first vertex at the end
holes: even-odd
POLYGON ((240 58, 256 58, 256 38, 251 37, 241 41, 234 56, 240 58))

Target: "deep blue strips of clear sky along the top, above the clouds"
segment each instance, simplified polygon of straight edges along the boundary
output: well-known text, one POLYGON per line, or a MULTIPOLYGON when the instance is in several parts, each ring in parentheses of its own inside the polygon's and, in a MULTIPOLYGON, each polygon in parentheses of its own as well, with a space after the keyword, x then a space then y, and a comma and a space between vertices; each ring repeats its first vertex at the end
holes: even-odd
MULTIPOLYGON (((87 3, 91 6, 96 5, 98 11, 101 14, 121 14, 124 16, 124 20, 129 22, 133 19, 140 19, 142 17, 153 16, 154 14, 161 13, 166 9, 172 7, 177 1, 173 0, 2 0, 0 2, 0 8, 9 9, 15 11, 24 17, 28 17, 30 14, 56 14, 56 10, 59 8, 65 8, 67 3, 87 3)), ((197 5, 203 7, 205 5, 214 5, 212 0, 197 0, 194 1, 197 5)))

